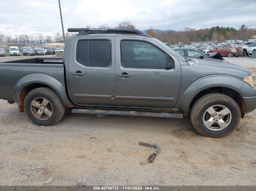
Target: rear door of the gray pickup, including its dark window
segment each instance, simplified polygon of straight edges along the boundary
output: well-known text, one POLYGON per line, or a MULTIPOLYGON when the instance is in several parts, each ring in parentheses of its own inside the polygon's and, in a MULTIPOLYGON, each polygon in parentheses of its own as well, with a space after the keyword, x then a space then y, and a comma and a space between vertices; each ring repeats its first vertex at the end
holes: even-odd
POLYGON ((75 37, 68 57, 71 98, 78 105, 115 105, 115 37, 75 37))

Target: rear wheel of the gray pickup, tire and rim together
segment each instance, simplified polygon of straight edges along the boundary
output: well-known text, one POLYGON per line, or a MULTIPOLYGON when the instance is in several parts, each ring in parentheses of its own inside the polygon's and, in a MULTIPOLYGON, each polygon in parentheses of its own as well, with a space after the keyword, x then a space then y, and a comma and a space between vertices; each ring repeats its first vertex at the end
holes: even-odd
POLYGON ((65 113, 62 100, 51 88, 36 88, 30 91, 24 100, 24 110, 28 118, 39 126, 52 126, 58 123, 65 113), (33 100, 35 102, 32 102, 33 100), (45 108, 42 107, 43 101, 47 103, 45 108))

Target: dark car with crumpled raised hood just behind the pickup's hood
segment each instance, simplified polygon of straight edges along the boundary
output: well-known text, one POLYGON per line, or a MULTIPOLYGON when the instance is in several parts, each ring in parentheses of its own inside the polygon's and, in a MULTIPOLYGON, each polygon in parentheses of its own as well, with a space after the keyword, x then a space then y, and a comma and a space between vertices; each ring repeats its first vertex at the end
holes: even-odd
POLYGON ((217 61, 217 62, 223 62, 222 60, 224 60, 222 56, 220 56, 218 59, 215 59, 211 56, 208 56, 202 53, 199 50, 192 49, 192 48, 174 48, 173 50, 183 57, 189 57, 194 59, 206 59, 209 61, 217 61))

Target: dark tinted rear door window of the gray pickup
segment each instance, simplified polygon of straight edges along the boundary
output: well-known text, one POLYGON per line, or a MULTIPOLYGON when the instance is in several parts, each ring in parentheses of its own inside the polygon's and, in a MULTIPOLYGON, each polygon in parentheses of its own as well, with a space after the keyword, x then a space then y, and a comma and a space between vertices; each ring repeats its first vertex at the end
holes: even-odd
POLYGON ((110 48, 109 40, 79 40, 76 59, 85 66, 109 67, 110 48))

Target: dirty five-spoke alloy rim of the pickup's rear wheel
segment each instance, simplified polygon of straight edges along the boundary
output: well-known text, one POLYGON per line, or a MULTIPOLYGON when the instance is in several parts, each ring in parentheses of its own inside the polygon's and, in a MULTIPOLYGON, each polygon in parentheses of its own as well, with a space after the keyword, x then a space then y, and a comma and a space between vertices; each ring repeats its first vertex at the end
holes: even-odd
POLYGON ((47 120, 52 116, 52 104, 44 97, 36 97, 30 104, 30 110, 35 118, 47 120))

